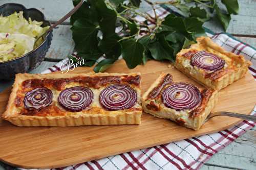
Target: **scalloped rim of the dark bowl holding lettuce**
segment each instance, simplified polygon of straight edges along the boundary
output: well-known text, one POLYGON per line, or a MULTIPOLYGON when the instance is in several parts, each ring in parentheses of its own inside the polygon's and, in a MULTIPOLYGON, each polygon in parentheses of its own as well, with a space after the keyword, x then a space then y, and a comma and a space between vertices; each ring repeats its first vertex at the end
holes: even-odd
MULTIPOLYGON (((49 22, 49 23, 50 23, 50 26, 51 26, 51 22, 50 22, 49 20, 46 20, 46 17, 45 17, 45 15, 44 15, 44 13, 42 13, 41 11, 39 11, 39 10, 36 9, 36 8, 26 8, 24 5, 22 5, 22 4, 17 4, 17 3, 6 3, 6 4, 1 5, 1 6, 0 6, 0 9, 3 8, 3 7, 5 7, 5 6, 7 6, 7 5, 18 5, 18 6, 22 7, 22 8, 24 8, 24 10, 22 10, 22 11, 31 10, 31 9, 32 9, 32 10, 36 10, 37 12, 39 12, 39 13, 42 14, 44 21, 49 22)), ((10 62, 10 61, 14 61, 14 60, 17 60, 17 59, 26 57, 27 55, 33 53, 33 52, 36 51, 41 45, 43 45, 44 43, 46 43, 46 40, 47 40, 48 36, 49 36, 51 33, 52 33, 52 31, 48 32, 48 33, 45 35, 44 41, 42 41, 42 43, 41 43, 40 45, 38 45, 38 46, 37 46, 35 49, 33 49, 32 51, 30 51, 30 52, 28 52, 28 53, 26 53, 26 54, 24 54, 24 55, 22 55, 22 56, 19 56, 19 57, 17 57, 17 58, 14 58, 14 59, 11 59, 11 60, 7 60, 7 61, 2 61, 2 62, 0 62, 0 64, 4 64, 4 63, 10 62)))

